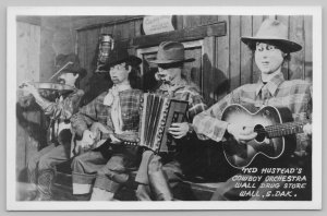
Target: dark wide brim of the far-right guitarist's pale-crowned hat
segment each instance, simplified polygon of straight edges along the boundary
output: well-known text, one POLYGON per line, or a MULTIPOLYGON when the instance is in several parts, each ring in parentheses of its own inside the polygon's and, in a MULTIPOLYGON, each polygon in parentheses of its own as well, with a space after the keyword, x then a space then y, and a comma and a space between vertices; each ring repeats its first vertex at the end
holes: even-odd
POLYGON ((251 49, 255 49, 255 43, 257 41, 266 41, 266 43, 272 43, 280 46, 282 50, 289 51, 289 52, 295 52, 300 51, 302 49, 302 46, 298 43, 294 43, 292 40, 288 39, 280 39, 280 38, 265 38, 265 37, 241 37, 241 40, 246 44, 251 49))

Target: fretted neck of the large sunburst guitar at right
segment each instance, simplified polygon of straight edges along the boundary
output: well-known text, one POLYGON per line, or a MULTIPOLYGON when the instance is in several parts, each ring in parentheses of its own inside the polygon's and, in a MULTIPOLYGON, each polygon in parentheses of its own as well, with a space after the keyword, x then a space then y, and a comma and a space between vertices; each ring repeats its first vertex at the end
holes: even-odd
POLYGON ((265 127, 268 137, 280 137, 284 135, 303 133, 303 122, 287 122, 275 125, 265 127))

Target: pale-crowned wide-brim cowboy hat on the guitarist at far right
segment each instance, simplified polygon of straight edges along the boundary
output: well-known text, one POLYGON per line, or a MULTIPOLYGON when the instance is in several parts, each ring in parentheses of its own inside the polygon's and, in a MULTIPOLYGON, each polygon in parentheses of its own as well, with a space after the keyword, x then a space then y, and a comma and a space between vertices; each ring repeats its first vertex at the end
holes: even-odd
POLYGON ((241 40, 253 50, 258 41, 276 45, 284 52, 295 52, 302 49, 300 44, 288 39, 287 26, 272 19, 265 20, 254 37, 243 36, 241 40))

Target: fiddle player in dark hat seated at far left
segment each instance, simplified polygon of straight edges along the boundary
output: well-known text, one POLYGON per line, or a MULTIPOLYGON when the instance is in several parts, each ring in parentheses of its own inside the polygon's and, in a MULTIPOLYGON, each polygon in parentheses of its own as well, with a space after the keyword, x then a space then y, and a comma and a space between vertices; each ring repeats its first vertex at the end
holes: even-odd
POLYGON ((33 95, 45 115, 50 117, 49 130, 52 135, 48 146, 32 156, 27 163, 28 179, 36 189, 31 192, 27 200, 52 200, 55 166, 70 159, 72 139, 70 118, 78 110, 80 100, 84 95, 84 92, 75 86, 76 82, 86 75, 86 70, 81 68, 78 58, 74 53, 59 55, 56 60, 60 70, 56 74, 58 81, 73 89, 66 97, 60 96, 52 103, 40 96, 34 85, 24 83, 22 86, 24 91, 33 95))

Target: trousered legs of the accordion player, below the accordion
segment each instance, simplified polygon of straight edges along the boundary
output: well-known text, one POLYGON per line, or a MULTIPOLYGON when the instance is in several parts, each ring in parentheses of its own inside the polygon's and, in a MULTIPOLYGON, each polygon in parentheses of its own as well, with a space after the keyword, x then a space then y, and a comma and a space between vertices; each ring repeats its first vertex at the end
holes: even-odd
POLYGON ((195 176, 199 171, 197 156, 201 147, 187 141, 179 143, 175 152, 169 154, 143 153, 136 181, 136 197, 141 201, 171 201, 173 190, 183 179, 195 176))

